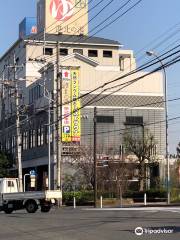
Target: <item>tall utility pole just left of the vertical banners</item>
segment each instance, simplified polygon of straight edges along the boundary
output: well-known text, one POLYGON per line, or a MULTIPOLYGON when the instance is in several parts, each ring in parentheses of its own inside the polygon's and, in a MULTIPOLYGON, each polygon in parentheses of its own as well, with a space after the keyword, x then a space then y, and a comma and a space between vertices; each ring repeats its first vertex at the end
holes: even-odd
MULTIPOLYGON (((56 166, 57 189, 62 190, 61 163, 62 163, 62 72, 60 71, 59 42, 57 42, 57 76, 56 76, 56 166)), ((59 202, 60 206, 61 203, 59 202)))

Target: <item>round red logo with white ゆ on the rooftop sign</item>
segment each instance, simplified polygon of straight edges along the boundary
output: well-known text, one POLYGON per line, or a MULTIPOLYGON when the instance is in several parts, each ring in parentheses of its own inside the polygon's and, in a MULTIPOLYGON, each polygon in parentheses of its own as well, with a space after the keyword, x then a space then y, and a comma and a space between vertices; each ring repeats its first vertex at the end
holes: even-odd
POLYGON ((73 15, 72 0, 52 0, 50 14, 57 21, 66 21, 73 15))

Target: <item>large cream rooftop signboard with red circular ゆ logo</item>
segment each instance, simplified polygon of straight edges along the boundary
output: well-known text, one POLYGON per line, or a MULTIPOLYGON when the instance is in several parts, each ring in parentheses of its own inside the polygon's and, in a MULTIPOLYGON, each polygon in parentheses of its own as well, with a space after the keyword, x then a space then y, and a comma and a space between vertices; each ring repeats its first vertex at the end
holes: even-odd
POLYGON ((88 0, 39 0, 38 32, 88 34, 88 0))

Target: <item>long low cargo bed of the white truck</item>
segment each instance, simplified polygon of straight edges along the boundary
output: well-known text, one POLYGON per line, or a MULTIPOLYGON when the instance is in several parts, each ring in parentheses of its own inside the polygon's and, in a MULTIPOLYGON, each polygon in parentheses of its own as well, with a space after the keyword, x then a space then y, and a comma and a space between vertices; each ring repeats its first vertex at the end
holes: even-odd
POLYGON ((3 200, 61 199, 62 193, 59 190, 3 193, 2 198, 3 198, 3 200))

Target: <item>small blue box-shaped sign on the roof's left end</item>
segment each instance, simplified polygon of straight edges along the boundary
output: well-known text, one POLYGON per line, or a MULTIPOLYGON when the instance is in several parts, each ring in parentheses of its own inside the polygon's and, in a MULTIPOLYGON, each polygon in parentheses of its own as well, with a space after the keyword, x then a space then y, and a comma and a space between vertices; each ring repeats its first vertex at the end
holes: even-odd
POLYGON ((19 24, 19 38, 24 38, 37 33, 36 18, 24 18, 19 24))

